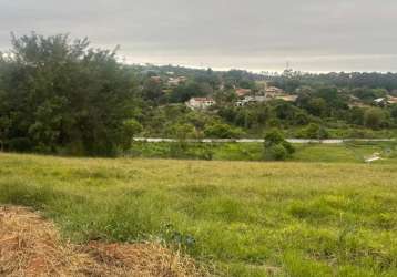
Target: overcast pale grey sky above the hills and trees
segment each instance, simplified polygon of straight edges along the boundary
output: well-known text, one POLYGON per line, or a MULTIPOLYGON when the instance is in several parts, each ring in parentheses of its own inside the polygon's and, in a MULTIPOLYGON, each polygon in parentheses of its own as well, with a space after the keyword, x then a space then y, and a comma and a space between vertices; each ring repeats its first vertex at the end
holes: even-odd
POLYGON ((397 71, 397 0, 0 0, 10 32, 121 45, 131 63, 397 71))

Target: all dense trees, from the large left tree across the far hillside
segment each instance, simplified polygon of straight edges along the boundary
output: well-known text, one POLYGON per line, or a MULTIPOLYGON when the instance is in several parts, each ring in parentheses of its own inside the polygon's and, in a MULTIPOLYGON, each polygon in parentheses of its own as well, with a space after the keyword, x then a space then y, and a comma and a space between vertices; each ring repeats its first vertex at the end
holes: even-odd
POLYGON ((0 54, 0 145, 116 155, 131 147, 134 135, 264 137, 273 127, 289 137, 390 137, 397 104, 374 100, 396 92, 395 73, 254 74, 128 65, 118 61, 116 49, 32 33, 12 37, 12 49, 0 54), (296 101, 236 105, 236 90, 255 96, 272 85, 296 101), (189 109, 184 102, 194 96, 213 98, 216 104, 189 109))

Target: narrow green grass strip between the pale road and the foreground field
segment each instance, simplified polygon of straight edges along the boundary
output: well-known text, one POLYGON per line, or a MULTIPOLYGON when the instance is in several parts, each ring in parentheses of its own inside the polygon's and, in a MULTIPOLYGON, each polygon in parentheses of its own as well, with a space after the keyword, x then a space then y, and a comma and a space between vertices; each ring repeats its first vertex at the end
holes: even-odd
MULTIPOLYGON (((131 155, 149 158, 172 158, 175 143, 134 143, 131 155)), ((295 144, 294 162, 340 162, 364 163, 364 157, 375 152, 383 154, 384 160, 377 163, 397 163, 397 143, 359 143, 345 144, 295 144)), ((183 151, 176 153, 179 158, 206 160, 212 153, 214 161, 262 161, 262 143, 189 143, 183 151)))

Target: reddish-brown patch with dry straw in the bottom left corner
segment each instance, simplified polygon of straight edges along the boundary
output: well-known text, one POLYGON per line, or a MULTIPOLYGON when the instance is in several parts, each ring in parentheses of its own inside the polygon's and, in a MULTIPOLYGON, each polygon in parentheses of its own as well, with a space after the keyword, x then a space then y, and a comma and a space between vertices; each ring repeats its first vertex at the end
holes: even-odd
POLYGON ((0 206, 0 276, 203 276, 159 244, 65 243, 54 225, 23 207, 0 206))

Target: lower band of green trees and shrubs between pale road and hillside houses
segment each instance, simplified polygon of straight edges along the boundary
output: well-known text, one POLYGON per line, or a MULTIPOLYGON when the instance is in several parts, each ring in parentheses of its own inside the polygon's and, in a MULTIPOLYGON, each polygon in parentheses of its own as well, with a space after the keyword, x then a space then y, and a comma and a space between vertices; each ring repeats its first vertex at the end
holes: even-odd
POLYGON ((263 137, 269 129, 278 129, 287 137, 389 137, 396 133, 397 109, 333 109, 323 98, 298 99, 235 106, 218 103, 206 112, 193 111, 184 104, 162 105, 140 116, 143 136, 175 138, 263 137))

